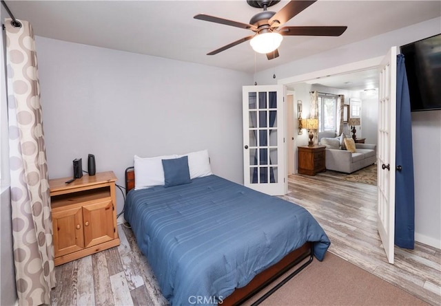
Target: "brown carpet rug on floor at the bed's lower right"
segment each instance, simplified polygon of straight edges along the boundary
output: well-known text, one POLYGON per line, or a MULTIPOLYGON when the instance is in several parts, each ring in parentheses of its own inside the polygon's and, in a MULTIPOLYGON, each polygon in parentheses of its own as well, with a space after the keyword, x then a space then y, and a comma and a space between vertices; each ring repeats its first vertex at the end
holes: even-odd
MULTIPOLYGON (((258 294, 261 296, 261 294, 258 294)), ((251 305, 256 299, 245 303, 251 305)), ((262 306, 278 305, 429 305, 360 267, 327 252, 291 278, 262 306)))

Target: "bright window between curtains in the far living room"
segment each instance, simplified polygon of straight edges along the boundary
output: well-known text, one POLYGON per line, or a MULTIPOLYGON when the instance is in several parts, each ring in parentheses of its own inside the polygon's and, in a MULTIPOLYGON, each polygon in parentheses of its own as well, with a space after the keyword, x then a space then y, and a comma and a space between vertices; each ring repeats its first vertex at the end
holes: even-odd
POLYGON ((318 93, 318 131, 337 131, 337 95, 318 93))

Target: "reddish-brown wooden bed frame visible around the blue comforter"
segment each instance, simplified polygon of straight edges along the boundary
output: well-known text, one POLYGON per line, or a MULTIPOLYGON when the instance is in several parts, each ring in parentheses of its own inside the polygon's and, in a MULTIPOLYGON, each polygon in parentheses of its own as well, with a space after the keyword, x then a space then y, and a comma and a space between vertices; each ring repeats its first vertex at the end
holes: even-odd
MULTIPOLYGON (((135 173, 134 167, 128 167, 125 169, 125 193, 128 193, 135 186, 135 173)), ((223 299, 222 303, 219 302, 219 305, 242 305, 245 300, 248 300, 262 289, 267 287, 269 284, 276 281, 277 278, 283 276, 283 274, 287 273, 293 267, 296 267, 294 272, 291 272, 288 276, 285 276, 281 281, 276 283, 274 287, 269 289, 268 292, 263 294, 258 300, 256 300, 252 306, 259 305, 263 302, 268 296, 276 292, 277 289, 282 287, 287 281, 296 276, 300 271, 305 269, 309 263, 311 263, 314 259, 314 255, 312 252, 312 243, 307 242, 302 245, 300 248, 292 251, 287 254, 280 260, 278 263, 272 265, 267 268, 263 272, 260 272, 251 282, 249 282, 245 287, 236 288, 234 292, 227 296, 227 298, 223 299)))

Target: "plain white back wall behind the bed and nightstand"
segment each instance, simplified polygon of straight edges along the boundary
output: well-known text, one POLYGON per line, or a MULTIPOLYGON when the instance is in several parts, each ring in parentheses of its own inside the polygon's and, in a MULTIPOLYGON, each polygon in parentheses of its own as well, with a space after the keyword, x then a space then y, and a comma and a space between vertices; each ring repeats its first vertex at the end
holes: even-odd
MULTIPOLYGON (((124 186, 133 156, 208 149, 212 171, 243 184, 242 86, 252 76, 36 38, 50 178, 96 158, 124 186)), ((123 199, 117 190, 117 210, 123 199)))

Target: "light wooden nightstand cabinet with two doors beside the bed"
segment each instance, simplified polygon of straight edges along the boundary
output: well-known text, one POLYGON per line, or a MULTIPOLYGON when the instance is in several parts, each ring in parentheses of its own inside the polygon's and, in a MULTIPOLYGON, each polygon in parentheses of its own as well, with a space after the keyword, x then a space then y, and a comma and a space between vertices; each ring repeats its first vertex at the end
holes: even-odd
POLYGON ((112 171, 50 179, 55 265, 119 245, 112 171))

